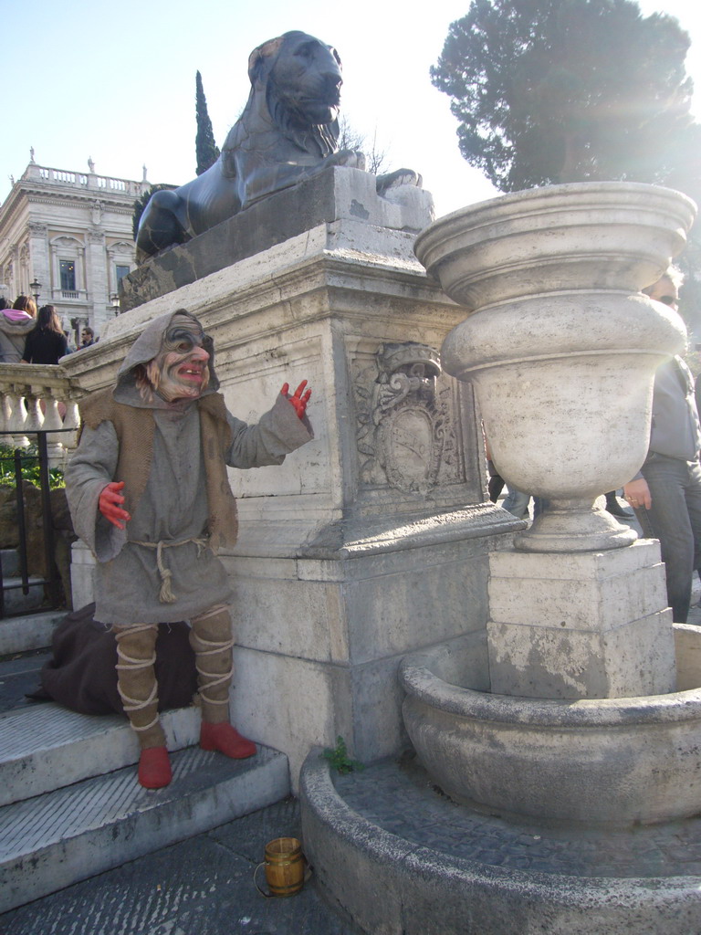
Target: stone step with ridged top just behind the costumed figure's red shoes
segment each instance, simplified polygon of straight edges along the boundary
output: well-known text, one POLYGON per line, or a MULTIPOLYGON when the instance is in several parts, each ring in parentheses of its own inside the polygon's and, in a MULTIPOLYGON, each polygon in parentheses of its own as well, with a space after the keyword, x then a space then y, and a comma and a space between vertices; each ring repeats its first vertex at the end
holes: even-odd
MULTIPOLYGON (((162 716, 169 750, 199 738, 200 716, 181 708, 162 716)), ((48 703, 0 717, 0 805, 34 798, 138 761, 138 741, 118 714, 94 717, 48 703)))

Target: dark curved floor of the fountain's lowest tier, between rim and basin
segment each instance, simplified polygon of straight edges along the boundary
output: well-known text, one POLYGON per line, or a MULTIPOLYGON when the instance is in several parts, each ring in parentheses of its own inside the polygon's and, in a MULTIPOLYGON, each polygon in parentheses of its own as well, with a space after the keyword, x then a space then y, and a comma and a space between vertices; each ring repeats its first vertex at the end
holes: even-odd
POLYGON ((336 779, 356 812, 417 847, 512 870, 586 877, 701 875, 701 818, 657 826, 514 824, 447 798, 414 755, 336 779))

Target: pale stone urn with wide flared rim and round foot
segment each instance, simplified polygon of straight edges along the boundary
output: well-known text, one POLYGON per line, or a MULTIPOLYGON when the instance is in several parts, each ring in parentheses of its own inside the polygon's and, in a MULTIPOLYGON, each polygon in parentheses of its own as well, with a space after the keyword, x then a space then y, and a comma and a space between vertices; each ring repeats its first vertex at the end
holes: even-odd
POLYGON ((684 347, 677 313, 640 290, 683 248, 684 195, 582 182, 504 195, 431 224, 414 250, 465 322, 443 367, 476 389, 494 465, 549 501, 517 549, 627 545, 636 533, 594 509, 645 459, 654 371, 684 347))

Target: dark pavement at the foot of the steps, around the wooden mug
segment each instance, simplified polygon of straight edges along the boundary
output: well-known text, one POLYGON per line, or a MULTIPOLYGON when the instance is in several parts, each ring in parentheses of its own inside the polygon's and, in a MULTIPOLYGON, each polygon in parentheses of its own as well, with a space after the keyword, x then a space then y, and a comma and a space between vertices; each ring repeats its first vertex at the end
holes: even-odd
POLYGON ((312 882, 287 899, 256 889, 267 841, 300 835, 288 798, 4 913, 0 935, 357 935, 312 882))

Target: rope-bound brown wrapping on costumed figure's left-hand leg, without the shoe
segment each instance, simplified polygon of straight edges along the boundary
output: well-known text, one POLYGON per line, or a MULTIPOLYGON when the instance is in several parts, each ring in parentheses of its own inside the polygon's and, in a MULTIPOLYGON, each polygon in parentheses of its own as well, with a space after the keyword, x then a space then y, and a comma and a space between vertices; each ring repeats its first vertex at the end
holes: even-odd
POLYGON ((118 657, 117 688, 124 712, 142 750, 165 747, 165 734, 158 717, 158 684, 153 670, 158 626, 115 626, 114 635, 118 657))

